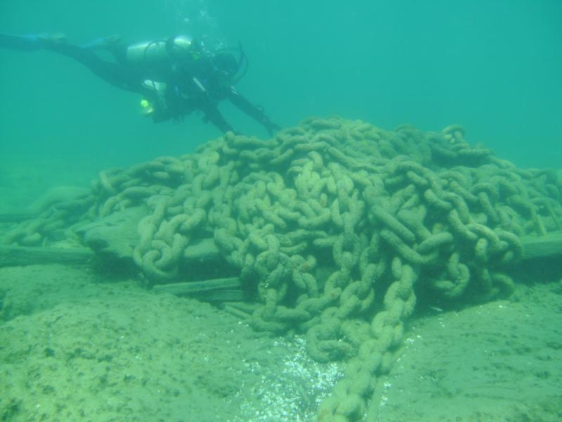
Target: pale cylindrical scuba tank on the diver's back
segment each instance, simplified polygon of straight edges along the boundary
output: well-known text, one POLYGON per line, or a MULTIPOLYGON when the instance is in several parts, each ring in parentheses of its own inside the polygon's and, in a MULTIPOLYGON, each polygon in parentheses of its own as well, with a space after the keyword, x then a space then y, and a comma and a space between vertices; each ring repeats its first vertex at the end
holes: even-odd
POLYGON ((130 63, 157 63, 171 58, 199 58, 200 46, 189 35, 132 44, 126 50, 130 63))

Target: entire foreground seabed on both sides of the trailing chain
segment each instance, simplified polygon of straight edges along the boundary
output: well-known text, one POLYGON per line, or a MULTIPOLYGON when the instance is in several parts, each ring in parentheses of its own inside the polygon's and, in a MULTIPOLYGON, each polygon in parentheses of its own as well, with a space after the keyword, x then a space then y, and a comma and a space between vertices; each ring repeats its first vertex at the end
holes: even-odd
MULTIPOLYGON (((299 337, 90 269, 0 269, 1 421, 313 421, 341 376, 299 337)), ((412 319, 373 421, 558 421, 562 282, 412 319)))

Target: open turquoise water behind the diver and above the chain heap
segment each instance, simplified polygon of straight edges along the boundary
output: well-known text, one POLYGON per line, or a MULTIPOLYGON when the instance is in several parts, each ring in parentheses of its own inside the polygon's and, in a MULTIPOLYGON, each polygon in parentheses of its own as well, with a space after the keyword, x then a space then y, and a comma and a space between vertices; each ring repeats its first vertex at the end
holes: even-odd
MULTIPOLYGON (((82 44, 190 33, 240 41, 238 89, 289 127, 337 114, 385 129, 459 123, 519 167, 562 162, 562 3, 525 1, 2 1, 0 32, 82 44)), ((0 155, 84 171, 178 155, 218 136, 200 115, 153 124, 140 98, 50 52, 0 50, 0 155)), ((246 134, 263 129, 228 104, 246 134)), ((4 161, 4 160, 3 160, 4 161)), ((4 164, 4 163, 2 163, 4 164)))

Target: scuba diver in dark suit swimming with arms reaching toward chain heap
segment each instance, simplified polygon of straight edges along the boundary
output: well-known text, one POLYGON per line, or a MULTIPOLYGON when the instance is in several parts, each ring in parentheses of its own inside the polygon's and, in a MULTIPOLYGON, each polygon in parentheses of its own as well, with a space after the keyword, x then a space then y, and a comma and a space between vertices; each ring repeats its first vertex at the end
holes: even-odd
POLYGON ((55 51, 73 58, 105 82, 141 94, 143 113, 154 122, 178 121, 201 110, 204 121, 223 133, 235 132, 217 108, 220 101, 228 99, 261 123, 270 136, 280 129, 234 87, 247 70, 248 60, 241 46, 237 49, 239 58, 235 58, 233 49, 209 51, 187 35, 131 45, 113 35, 76 46, 60 34, 0 34, 0 47, 55 51), (105 60, 98 51, 109 53, 112 60, 105 60))

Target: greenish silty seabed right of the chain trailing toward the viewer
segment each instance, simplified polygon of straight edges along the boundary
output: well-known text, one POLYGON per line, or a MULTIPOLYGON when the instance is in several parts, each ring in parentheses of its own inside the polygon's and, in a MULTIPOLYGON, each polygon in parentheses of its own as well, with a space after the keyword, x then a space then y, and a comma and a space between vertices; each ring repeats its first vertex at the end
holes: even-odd
POLYGON ((377 421, 561 421, 561 322, 562 281, 414 319, 377 421))

